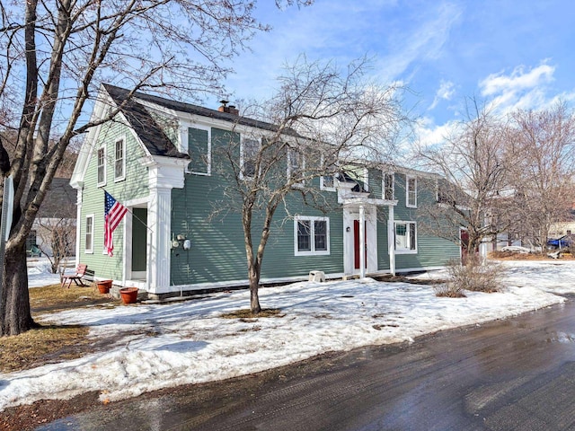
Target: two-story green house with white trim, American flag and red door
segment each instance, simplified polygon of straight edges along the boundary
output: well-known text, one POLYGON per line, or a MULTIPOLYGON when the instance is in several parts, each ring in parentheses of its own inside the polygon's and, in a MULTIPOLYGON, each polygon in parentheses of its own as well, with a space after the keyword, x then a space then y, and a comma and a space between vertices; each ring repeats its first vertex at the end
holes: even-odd
MULTIPOLYGON (((245 166, 252 136, 265 136, 273 125, 242 118, 232 107, 208 110, 143 93, 125 103, 127 94, 102 85, 93 119, 124 105, 114 121, 90 130, 70 180, 78 194, 77 262, 97 278, 155 297, 246 285, 241 215, 214 216, 229 180, 218 171, 226 161, 215 150, 233 139, 245 166), (129 209, 114 232, 113 257, 102 253, 104 189, 129 209)), ((455 243, 418 232, 418 206, 437 199, 435 191, 418 188, 424 176, 361 168, 316 179, 312 185, 332 210, 299 198, 288 203, 291 218, 274 225, 261 282, 302 279, 310 270, 342 277, 440 268, 460 258, 455 243)), ((286 216, 279 208, 276 219, 286 216)))

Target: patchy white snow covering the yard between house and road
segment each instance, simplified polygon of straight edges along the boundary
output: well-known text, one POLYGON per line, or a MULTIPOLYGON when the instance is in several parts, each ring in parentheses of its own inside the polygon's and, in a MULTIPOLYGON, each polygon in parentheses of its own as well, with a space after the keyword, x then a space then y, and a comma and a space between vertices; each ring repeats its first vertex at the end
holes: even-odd
MULTIPOLYGON (((462 325, 535 310, 575 292, 575 261, 505 262, 502 292, 438 298, 433 288, 366 278, 261 289, 279 317, 223 319, 249 306, 236 291, 170 304, 97 307, 46 314, 43 323, 82 324, 93 338, 119 336, 102 352, 0 374, 0 410, 40 399, 101 391, 102 402, 183 383, 201 383, 288 365, 333 350, 407 341, 462 325)), ((55 283, 38 268, 31 285, 55 283), (43 275, 42 275, 43 274, 43 275), (44 278, 42 278, 44 277, 44 278)), ((420 277, 445 277, 435 272, 420 277)), ((57 279, 56 279, 57 283, 57 279)))

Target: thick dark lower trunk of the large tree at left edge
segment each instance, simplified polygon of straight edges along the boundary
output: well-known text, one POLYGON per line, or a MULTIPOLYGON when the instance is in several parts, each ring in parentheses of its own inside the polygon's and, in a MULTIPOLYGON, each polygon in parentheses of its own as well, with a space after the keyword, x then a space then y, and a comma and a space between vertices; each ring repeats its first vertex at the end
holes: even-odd
POLYGON ((6 249, 0 302, 0 336, 18 335, 37 325, 32 320, 24 244, 6 249), (10 268, 10 270, 6 270, 10 268))

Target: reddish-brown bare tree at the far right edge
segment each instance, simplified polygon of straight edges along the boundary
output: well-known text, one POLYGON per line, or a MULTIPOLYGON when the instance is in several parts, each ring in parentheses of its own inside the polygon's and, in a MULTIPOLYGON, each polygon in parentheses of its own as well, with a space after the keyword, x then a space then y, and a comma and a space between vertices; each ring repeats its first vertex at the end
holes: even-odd
POLYGON ((564 102, 512 115, 517 235, 544 251, 551 224, 568 219, 575 201, 575 117, 564 102))

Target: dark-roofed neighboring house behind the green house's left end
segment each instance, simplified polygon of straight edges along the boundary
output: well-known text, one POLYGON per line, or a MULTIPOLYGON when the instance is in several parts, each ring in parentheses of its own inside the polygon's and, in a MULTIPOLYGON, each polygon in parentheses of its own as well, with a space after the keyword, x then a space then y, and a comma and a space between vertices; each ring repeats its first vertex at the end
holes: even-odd
POLYGON ((76 207, 75 199, 77 193, 70 186, 69 178, 54 178, 49 186, 46 198, 40 206, 40 211, 31 232, 26 239, 26 251, 32 251, 29 254, 35 254, 36 246, 42 253, 52 256, 52 248, 58 241, 66 239, 67 256, 74 256, 75 253, 75 223, 76 207))

